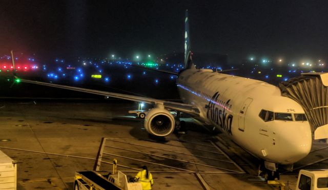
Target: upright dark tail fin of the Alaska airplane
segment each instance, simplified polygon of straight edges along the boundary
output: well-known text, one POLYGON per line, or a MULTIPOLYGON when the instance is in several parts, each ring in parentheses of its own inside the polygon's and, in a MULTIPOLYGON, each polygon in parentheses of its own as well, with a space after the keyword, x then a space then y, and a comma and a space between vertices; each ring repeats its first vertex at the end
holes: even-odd
POLYGON ((185 17, 185 68, 186 69, 195 68, 191 54, 192 53, 190 49, 189 17, 188 17, 188 10, 186 10, 186 17, 185 17))

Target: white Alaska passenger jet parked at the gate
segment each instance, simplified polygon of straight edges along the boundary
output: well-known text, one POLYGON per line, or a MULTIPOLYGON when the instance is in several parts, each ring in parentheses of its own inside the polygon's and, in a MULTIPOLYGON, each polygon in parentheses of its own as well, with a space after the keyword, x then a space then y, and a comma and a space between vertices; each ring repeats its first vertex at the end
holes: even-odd
MULTIPOLYGON (((11 52, 12 53, 12 52, 11 52)), ((12 64, 15 63, 12 53, 12 64)), ((27 79, 36 85, 68 89, 102 96, 145 102, 154 105, 145 117, 145 129, 153 136, 165 137, 181 125, 179 114, 187 113, 203 123, 212 124, 255 157, 263 160, 267 180, 279 178, 278 166, 291 165, 310 153, 312 132, 303 108, 284 97, 278 87, 267 82, 196 69, 191 53, 188 10, 185 17, 185 69, 177 75, 176 85, 183 103, 148 97, 57 85, 27 79)))

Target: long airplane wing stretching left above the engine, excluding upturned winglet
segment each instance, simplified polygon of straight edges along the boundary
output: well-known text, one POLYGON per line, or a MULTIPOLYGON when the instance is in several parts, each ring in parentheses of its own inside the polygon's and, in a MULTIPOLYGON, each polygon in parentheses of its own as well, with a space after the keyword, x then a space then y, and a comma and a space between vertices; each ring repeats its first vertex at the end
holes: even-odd
POLYGON ((85 88, 79 88, 79 87, 71 87, 71 86, 65 86, 65 85, 57 85, 57 84, 48 83, 48 82, 20 79, 17 76, 15 76, 15 78, 19 79, 21 82, 32 83, 32 84, 36 84, 36 85, 43 85, 43 86, 48 86, 48 87, 60 88, 60 89, 74 90, 74 91, 79 91, 79 92, 86 92, 86 93, 90 93, 90 94, 109 96, 109 97, 113 97, 113 98, 126 99, 126 100, 131 100, 131 101, 140 101, 140 102, 145 102, 145 103, 149 103, 149 104, 162 104, 162 105, 164 105, 165 108, 168 108, 168 109, 187 113, 192 116, 199 116, 199 110, 197 108, 193 107, 192 105, 189 105, 186 103, 178 103, 178 102, 174 102, 174 101, 166 101, 166 100, 160 100, 160 99, 155 99, 155 98, 133 96, 133 95, 106 92, 106 91, 98 91, 98 90, 85 89, 85 88))

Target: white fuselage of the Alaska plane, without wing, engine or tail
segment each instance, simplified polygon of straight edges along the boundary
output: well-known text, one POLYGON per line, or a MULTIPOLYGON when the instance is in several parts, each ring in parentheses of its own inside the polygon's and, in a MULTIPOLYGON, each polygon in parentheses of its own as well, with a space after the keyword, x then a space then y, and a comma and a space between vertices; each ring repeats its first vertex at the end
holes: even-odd
POLYGON ((182 71, 177 87, 183 102, 199 109, 200 120, 215 125, 259 158, 291 164, 311 150, 309 122, 295 119, 304 110, 282 96, 278 87, 206 69, 182 71), (291 120, 264 121, 259 116, 261 110, 285 113, 291 120))

